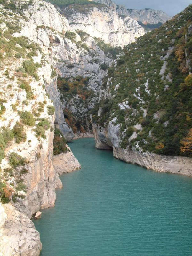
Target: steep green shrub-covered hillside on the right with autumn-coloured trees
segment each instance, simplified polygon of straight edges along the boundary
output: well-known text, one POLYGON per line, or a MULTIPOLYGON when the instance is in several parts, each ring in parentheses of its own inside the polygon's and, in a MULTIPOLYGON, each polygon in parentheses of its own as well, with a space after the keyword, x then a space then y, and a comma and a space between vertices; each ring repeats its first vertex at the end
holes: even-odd
POLYGON ((113 120, 121 127, 122 148, 136 146, 157 154, 192 156, 191 60, 189 5, 124 48, 104 79, 103 87, 110 86, 112 97, 94 109, 95 122, 107 127, 117 117, 113 120), (137 133, 135 139, 130 138, 133 132, 137 133))

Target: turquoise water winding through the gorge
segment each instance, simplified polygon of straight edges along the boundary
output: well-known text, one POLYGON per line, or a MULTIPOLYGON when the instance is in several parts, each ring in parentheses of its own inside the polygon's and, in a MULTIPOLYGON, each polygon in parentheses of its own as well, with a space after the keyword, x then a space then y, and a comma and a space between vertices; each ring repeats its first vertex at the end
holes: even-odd
POLYGON ((69 145, 82 169, 60 178, 56 206, 35 220, 43 256, 191 256, 192 179, 69 145))

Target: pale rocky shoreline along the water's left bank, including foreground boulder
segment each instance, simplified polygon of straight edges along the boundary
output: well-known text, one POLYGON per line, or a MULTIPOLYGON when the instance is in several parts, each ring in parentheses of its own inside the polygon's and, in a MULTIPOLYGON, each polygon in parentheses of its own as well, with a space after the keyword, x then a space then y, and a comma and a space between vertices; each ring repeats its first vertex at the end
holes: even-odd
MULTIPOLYGON (((51 147, 52 148, 52 147, 51 147)), ((23 203, 23 207, 20 206, 20 211, 11 204, 0 203, 0 256, 39 256, 42 244, 40 241, 39 232, 35 229, 33 222, 30 220, 32 215, 42 208, 49 208, 55 205, 56 194, 55 189, 62 188, 62 182, 59 179, 59 175, 74 170, 80 169, 81 165, 75 158, 70 148, 68 147, 67 153, 61 153, 53 156, 51 160, 51 170, 54 178, 52 184, 52 193, 49 193, 49 189, 46 188, 47 200, 43 203, 43 198, 39 198, 42 204, 34 205, 33 200, 30 201, 28 207, 28 200, 30 197, 26 196, 26 202, 23 203), (54 174, 54 175, 53 175, 54 174), (52 202, 48 204, 46 202, 52 202), (28 216, 22 212, 28 212, 28 216), (31 214, 29 214, 31 212, 31 214), (29 216, 30 215, 30 216, 29 216)), ((50 180, 51 181, 51 180, 50 180)), ((40 182, 41 184, 41 182, 40 182)), ((38 183, 39 185, 39 183, 38 183)), ((36 185, 37 188, 37 185, 36 185)), ((30 194, 34 196, 34 191, 30 194)), ((32 197, 31 197, 32 198, 32 197)))

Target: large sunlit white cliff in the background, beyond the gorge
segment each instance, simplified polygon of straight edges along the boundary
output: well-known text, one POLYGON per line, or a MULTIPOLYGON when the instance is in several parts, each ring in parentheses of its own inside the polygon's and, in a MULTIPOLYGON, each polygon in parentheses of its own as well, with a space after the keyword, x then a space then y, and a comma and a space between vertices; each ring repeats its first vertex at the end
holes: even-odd
POLYGON ((135 20, 129 16, 123 18, 118 15, 116 4, 113 2, 107 6, 95 6, 85 13, 79 12, 73 6, 66 7, 62 12, 72 28, 101 38, 114 47, 123 47, 144 35, 144 29, 135 20))

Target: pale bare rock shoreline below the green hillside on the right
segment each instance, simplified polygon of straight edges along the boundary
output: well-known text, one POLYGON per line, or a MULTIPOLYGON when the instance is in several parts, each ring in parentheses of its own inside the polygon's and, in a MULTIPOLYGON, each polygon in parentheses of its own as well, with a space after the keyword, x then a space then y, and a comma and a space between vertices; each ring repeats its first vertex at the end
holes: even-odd
POLYGON ((120 148, 118 127, 111 123, 108 128, 99 128, 93 124, 95 147, 113 150, 113 156, 131 164, 138 164, 157 172, 177 173, 192 177, 192 159, 182 156, 163 156, 151 152, 140 152, 136 148, 120 148))

